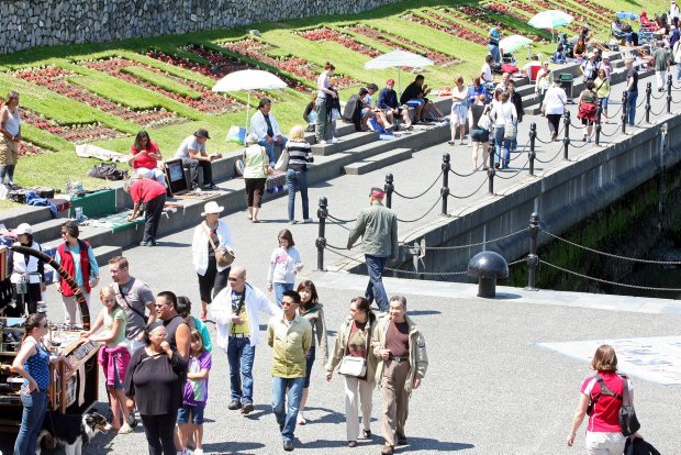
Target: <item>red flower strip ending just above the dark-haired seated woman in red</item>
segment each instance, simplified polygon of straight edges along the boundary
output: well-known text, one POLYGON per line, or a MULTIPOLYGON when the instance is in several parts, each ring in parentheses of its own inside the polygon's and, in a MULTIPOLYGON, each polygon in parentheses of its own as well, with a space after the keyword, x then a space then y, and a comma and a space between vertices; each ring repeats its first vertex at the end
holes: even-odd
POLYGON ((92 108, 101 109, 107 113, 143 126, 154 127, 187 122, 187 119, 164 109, 133 111, 132 109, 111 102, 99 95, 94 95, 70 84, 67 77, 74 74, 56 66, 22 69, 12 74, 20 79, 45 87, 56 93, 64 95, 72 100, 86 103, 92 108))

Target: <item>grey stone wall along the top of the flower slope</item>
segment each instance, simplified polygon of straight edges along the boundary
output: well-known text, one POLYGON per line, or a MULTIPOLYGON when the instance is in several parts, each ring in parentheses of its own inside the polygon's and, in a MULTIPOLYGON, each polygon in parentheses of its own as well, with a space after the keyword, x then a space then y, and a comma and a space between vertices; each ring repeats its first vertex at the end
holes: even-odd
POLYGON ((349 14, 400 0, 0 0, 0 54, 349 14))

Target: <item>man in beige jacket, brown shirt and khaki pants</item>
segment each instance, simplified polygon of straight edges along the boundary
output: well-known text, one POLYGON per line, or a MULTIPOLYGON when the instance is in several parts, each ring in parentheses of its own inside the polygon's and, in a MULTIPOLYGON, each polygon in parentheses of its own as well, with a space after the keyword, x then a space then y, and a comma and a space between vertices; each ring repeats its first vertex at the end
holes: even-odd
POLYGON ((373 354, 379 364, 376 384, 383 397, 382 429, 386 445, 381 454, 394 452, 395 445, 406 445, 404 424, 409 415, 409 397, 421 386, 428 368, 425 340, 415 322, 406 315, 406 299, 390 299, 389 315, 382 318, 373 332, 373 354))

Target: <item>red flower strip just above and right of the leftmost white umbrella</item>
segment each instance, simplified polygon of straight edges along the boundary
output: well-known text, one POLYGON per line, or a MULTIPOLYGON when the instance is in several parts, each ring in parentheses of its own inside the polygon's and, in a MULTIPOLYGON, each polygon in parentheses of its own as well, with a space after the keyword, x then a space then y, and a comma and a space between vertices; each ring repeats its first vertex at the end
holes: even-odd
MULTIPOLYGON (((322 73, 321 68, 316 67, 304 58, 293 56, 272 57, 270 55, 267 55, 266 52, 272 49, 273 47, 269 44, 263 43, 261 41, 246 38, 241 41, 221 43, 221 46, 232 51, 235 54, 244 55, 246 57, 253 58, 254 60, 273 66, 277 69, 289 73, 293 76, 309 80, 311 82, 316 84, 316 79, 322 73)), ((359 81, 342 74, 334 75, 331 78, 331 82, 336 88, 336 90, 343 90, 348 87, 356 87, 360 85, 359 81)))

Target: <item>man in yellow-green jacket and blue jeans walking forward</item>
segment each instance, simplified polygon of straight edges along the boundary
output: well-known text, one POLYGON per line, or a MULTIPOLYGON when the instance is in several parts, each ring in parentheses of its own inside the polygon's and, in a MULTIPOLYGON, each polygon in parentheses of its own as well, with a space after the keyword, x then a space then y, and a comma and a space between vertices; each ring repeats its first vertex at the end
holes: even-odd
POLYGON ((293 431, 305 382, 305 356, 312 346, 312 325, 298 314, 299 306, 298 292, 283 292, 282 313, 273 315, 267 324, 267 344, 272 347, 272 411, 287 452, 293 450, 293 431))

